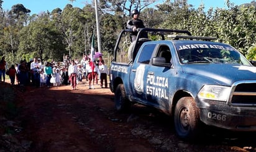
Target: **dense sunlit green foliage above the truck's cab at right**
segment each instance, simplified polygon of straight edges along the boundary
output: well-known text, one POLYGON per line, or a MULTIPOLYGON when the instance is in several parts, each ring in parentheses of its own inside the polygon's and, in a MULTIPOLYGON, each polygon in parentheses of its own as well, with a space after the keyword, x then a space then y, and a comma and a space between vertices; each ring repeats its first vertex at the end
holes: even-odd
POLYGON ((216 36, 218 41, 228 43, 246 55, 256 40, 255 7, 238 7, 227 1, 229 9, 204 12, 204 6, 190 8, 184 1, 167 1, 158 6, 164 12, 165 21, 161 28, 188 30, 193 35, 216 36))

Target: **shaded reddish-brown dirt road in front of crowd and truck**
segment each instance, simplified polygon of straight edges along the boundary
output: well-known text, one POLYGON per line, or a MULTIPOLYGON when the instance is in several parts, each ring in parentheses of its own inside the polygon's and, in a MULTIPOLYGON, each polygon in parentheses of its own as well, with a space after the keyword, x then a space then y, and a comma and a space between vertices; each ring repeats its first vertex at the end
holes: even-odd
POLYGON ((255 135, 217 129, 199 143, 182 141, 170 117, 138 104, 116 112, 109 88, 89 90, 85 80, 78 90, 62 85, 17 93, 22 130, 16 137, 31 141, 25 151, 256 151, 255 135))

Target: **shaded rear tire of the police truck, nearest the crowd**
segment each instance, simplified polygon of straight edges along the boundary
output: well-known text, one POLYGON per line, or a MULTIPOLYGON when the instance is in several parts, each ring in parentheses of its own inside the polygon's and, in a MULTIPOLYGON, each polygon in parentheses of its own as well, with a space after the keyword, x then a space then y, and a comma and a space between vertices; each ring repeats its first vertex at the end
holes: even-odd
POLYGON ((126 98, 126 90, 124 90, 124 84, 119 84, 117 86, 114 103, 118 112, 126 112, 130 109, 130 102, 126 98))

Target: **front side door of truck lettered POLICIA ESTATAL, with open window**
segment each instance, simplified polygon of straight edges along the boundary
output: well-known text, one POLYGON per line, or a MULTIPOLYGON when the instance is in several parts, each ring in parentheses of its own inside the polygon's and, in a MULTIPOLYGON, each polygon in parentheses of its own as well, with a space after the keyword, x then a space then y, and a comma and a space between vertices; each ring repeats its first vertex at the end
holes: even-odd
MULTIPOLYGON (((171 62, 171 52, 167 45, 159 45, 155 57, 164 57, 166 63, 171 62)), ((145 70, 146 99, 149 104, 160 109, 169 108, 169 89, 173 69, 162 65, 151 65, 145 70)))

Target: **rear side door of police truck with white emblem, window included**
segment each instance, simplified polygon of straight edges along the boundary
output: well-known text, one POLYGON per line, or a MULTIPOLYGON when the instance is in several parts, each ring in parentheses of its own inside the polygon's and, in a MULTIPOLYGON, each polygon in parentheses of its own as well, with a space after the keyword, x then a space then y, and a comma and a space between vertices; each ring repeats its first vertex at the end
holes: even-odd
POLYGON ((129 82, 131 96, 133 99, 141 103, 147 103, 147 83, 145 82, 145 80, 147 80, 147 73, 145 73, 145 69, 149 68, 149 62, 155 46, 156 44, 145 44, 141 46, 141 51, 139 51, 135 57, 134 64, 132 65, 130 72, 129 82))

